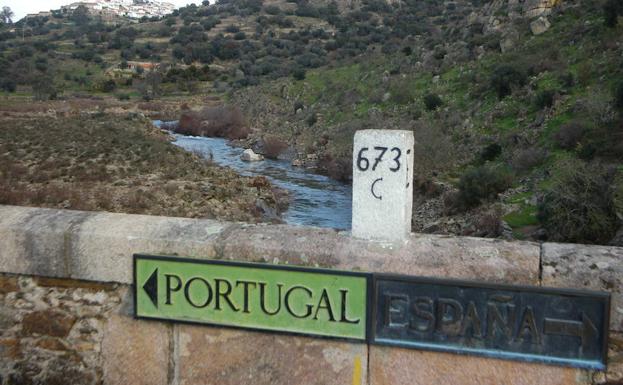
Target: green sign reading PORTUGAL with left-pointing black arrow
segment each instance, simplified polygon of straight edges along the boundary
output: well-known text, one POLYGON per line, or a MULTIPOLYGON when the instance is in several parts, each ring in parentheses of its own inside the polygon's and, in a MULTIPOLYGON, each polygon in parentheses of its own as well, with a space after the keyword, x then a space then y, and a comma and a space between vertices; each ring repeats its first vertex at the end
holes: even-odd
POLYGON ((365 340, 370 275, 134 256, 135 315, 365 340))

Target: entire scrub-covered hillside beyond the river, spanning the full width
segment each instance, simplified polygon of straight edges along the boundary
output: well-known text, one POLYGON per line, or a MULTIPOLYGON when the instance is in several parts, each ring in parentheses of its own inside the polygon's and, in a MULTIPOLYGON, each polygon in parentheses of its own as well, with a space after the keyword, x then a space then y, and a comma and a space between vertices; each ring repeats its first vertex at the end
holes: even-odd
POLYGON ((0 88, 12 102, 173 105, 191 129, 345 181, 356 130, 413 130, 414 230, 621 244, 621 14, 618 0, 55 14, 1 27, 0 88), (213 130, 223 114, 235 124, 213 130))

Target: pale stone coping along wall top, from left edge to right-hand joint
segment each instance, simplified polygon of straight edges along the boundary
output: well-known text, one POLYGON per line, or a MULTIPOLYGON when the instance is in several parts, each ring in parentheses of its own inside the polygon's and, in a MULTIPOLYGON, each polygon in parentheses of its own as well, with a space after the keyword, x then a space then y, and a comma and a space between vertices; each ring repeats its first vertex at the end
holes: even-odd
POLYGON ((227 259, 497 283, 539 283, 539 245, 412 234, 399 244, 329 229, 0 206, 4 273, 132 283, 132 254, 227 259))

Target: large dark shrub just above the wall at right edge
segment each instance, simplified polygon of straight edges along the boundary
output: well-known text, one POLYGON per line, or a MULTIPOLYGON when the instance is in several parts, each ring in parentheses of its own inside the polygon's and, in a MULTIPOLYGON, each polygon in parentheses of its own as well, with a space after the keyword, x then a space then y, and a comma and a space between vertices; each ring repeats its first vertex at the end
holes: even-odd
POLYGON ((618 227, 613 172, 580 160, 568 160, 558 170, 538 206, 538 218, 549 239, 608 242, 618 227))

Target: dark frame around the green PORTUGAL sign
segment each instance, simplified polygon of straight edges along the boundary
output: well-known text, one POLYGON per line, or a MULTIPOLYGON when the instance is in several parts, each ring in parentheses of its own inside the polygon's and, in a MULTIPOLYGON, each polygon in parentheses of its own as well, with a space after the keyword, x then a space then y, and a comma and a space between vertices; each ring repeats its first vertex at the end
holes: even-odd
POLYGON ((228 260, 216 260, 216 259, 196 259, 196 258, 188 258, 188 257, 176 257, 176 256, 166 256, 166 255, 153 255, 153 254, 144 254, 144 253, 135 253, 132 256, 132 287, 133 287, 133 317, 137 320, 148 320, 148 321, 161 321, 167 322, 170 324, 180 323, 186 325, 202 325, 202 326, 213 326, 219 328, 227 328, 234 330, 246 330, 252 332, 262 332, 262 333, 275 333, 282 335, 291 335, 291 336, 300 336, 300 337, 313 337, 319 339, 328 339, 328 340, 341 340, 346 342, 355 342, 355 343, 371 343, 372 338, 372 317, 374 316, 373 307, 373 273, 369 272, 354 272, 354 271, 344 271, 344 270, 332 270, 326 268, 313 268, 313 267, 303 267, 303 266, 291 266, 291 265, 274 265, 269 263, 262 262, 238 262, 238 261, 228 261, 228 260), (144 316, 138 314, 138 291, 142 287, 139 287, 137 281, 137 263, 139 259, 148 259, 152 261, 166 261, 166 262, 179 262, 179 263, 192 263, 192 264, 202 264, 202 265, 216 265, 216 266, 231 266, 231 267, 242 267, 242 268, 251 268, 251 269, 264 269, 264 270, 280 270, 285 272, 301 272, 301 273, 317 273, 324 275, 334 275, 334 276, 349 276, 349 277, 357 277, 363 278, 366 282, 366 293, 364 295, 364 306, 365 306, 365 317, 366 323, 364 325, 364 338, 352 338, 352 337, 342 337, 342 336, 332 336, 332 335, 323 335, 323 334, 315 334, 313 332, 300 332, 300 331, 289 331, 289 330, 278 330, 278 329, 267 329, 261 327, 249 327, 249 326, 241 326, 241 325, 228 325, 221 324, 215 322, 203 322, 203 321, 193 321, 193 320, 178 320, 171 318, 163 318, 163 317, 153 317, 153 316, 144 316))

